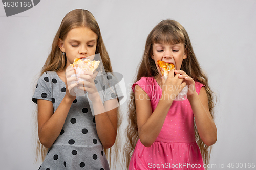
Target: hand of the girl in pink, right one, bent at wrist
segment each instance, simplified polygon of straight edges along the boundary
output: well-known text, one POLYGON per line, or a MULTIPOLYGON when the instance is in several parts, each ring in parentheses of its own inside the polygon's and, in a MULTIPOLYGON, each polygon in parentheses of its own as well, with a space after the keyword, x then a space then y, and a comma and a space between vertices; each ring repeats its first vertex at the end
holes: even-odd
POLYGON ((175 74, 179 74, 180 79, 184 79, 184 82, 188 85, 187 96, 194 95, 196 93, 195 81, 182 70, 174 70, 175 74))

